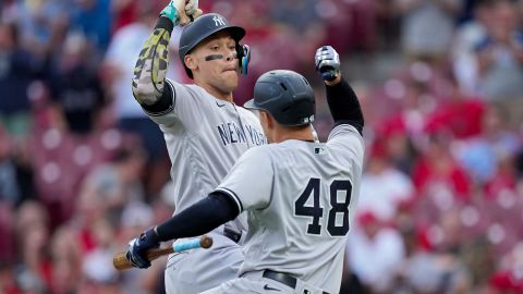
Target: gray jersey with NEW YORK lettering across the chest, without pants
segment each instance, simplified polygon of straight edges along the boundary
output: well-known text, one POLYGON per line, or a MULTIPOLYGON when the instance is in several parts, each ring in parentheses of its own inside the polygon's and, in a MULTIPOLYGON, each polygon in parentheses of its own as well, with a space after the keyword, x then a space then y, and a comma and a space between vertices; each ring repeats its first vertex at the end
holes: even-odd
POLYGON ((182 211, 212 192, 243 152, 267 140, 251 111, 199 86, 167 82, 174 93, 173 109, 149 117, 163 132, 174 205, 182 211))

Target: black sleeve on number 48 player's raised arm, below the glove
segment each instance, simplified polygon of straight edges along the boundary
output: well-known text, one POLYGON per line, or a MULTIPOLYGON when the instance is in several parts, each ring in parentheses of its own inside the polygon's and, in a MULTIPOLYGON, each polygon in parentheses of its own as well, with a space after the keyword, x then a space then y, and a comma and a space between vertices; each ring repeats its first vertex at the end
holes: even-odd
POLYGON ((362 134, 364 119, 360 101, 352 87, 338 76, 332 82, 326 82, 327 103, 335 120, 335 125, 351 124, 362 134))

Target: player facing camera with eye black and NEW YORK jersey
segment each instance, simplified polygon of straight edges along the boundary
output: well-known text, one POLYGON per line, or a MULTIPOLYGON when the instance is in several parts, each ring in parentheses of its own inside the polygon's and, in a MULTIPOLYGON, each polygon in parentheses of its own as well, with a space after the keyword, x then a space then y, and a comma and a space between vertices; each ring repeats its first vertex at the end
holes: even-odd
MULTIPOLYGON (((194 84, 166 79, 171 32, 182 14, 197 13, 197 0, 172 0, 161 11, 132 81, 135 99, 163 132, 172 163, 174 215, 214 191, 248 148, 266 143, 257 117, 233 102, 239 72, 245 73, 248 63, 248 48, 240 45, 242 27, 216 13, 184 26, 179 54, 194 84)), ((171 256, 165 272, 167 293, 199 293, 236 277, 244 260, 236 243, 245 230, 241 216, 212 231, 210 250, 171 256)))

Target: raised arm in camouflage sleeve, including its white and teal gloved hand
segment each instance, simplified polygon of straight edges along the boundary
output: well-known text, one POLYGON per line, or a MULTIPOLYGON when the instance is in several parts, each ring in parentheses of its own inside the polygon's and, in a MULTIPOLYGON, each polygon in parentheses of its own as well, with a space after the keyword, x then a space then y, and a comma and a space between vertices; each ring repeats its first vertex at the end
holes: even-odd
POLYGON ((166 87, 169 64, 169 41, 175 25, 186 15, 200 12, 198 1, 171 0, 160 12, 158 23, 139 52, 134 68, 133 95, 148 112, 158 113, 172 107, 172 93, 166 87))

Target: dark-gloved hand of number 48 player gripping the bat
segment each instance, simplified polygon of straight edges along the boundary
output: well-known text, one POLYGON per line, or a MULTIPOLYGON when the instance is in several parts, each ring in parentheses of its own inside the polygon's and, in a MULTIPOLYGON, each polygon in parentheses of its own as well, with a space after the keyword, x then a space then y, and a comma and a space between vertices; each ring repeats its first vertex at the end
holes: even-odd
POLYGON ((158 248, 159 246, 160 242, 158 241, 158 234, 155 229, 151 228, 143 232, 139 237, 135 237, 129 242, 125 258, 134 267, 146 269, 150 267, 150 261, 145 256, 145 252, 151 248, 158 248))

